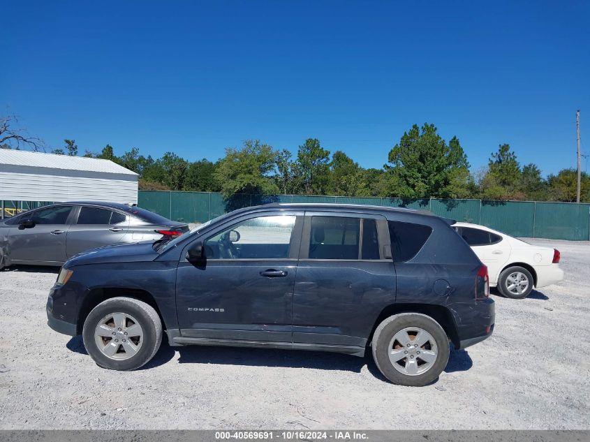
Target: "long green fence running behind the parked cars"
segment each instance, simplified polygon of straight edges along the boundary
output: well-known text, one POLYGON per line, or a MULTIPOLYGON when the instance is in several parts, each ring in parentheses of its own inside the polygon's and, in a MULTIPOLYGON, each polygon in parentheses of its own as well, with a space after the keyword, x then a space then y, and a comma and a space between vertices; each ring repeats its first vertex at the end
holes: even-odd
POLYGON ((517 237, 590 240, 590 204, 534 201, 481 201, 348 196, 236 195, 221 193, 139 191, 138 205, 175 221, 202 223, 238 207, 265 202, 340 202, 427 209, 439 216, 482 224, 517 237))

